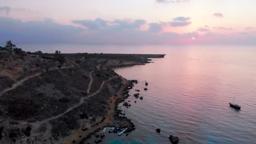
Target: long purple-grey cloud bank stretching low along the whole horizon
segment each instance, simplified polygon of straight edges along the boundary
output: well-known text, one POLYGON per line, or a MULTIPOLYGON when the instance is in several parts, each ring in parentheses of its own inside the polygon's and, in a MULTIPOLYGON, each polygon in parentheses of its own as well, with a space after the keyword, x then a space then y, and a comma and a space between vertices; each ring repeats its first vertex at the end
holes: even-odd
MULTIPOLYGON (((178 34, 164 32, 163 27, 185 26, 189 17, 176 17, 172 22, 150 22, 146 20, 74 20, 83 27, 62 25, 52 19, 23 22, 0 17, 0 43, 11 39, 14 43, 77 43, 77 44, 255 44, 255 32, 233 32, 217 34, 210 27, 200 27, 195 32, 178 34), (148 25, 142 31, 140 27, 148 25), (86 27, 86 28, 84 28, 86 27), (159 33, 160 32, 160 33, 159 33), (200 34, 204 32, 204 34, 200 34), (195 37, 195 40, 192 40, 195 37)), ((216 27, 220 31, 230 28, 216 27)), ((231 29, 230 29, 231 30, 231 29)), ((230 31, 229 30, 229 31, 230 31)))

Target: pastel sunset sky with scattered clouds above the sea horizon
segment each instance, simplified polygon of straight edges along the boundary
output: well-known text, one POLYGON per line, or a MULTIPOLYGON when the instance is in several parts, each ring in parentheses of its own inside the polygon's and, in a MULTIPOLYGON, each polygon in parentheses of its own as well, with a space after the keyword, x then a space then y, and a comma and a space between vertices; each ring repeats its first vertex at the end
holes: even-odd
POLYGON ((0 43, 256 45, 255 0, 0 0, 0 43))

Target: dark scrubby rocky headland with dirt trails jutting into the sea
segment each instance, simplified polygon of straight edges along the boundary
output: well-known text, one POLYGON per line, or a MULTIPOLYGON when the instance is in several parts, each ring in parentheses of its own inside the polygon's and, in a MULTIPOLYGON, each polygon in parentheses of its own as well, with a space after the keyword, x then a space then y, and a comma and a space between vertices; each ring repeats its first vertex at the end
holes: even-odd
POLYGON ((0 143, 83 143, 103 127, 134 130, 117 105, 136 81, 112 68, 164 57, 0 53, 0 143))

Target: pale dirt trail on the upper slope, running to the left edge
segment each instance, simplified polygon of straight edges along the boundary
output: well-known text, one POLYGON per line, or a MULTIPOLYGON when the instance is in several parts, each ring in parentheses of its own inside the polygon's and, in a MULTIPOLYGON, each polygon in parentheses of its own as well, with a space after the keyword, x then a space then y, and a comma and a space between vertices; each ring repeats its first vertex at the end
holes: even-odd
MULTIPOLYGON (((49 69, 48 71, 53 71, 53 70, 56 70, 56 69, 68 69, 68 68, 73 68, 74 65, 71 65, 69 67, 61 67, 61 68, 52 68, 52 69, 49 69)), ((45 72, 43 72, 45 73, 45 72)), ((32 78, 32 77, 36 77, 36 76, 39 76, 41 74, 43 74, 42 72, 41 73, 36 73, 36 74, 33 74, 33 75, 30 75, 30 76, 26 76, 24 77, 23 79, 19 80, 19 81, 16 81, 11 87, 9 88, 5 88, 1 93, 0 93, 0 97, 5 93, 5 92, 8 92, 12 89, 15 89, 16 87, 22 85, 23 82, 25 82, 26 80, 32 78)))

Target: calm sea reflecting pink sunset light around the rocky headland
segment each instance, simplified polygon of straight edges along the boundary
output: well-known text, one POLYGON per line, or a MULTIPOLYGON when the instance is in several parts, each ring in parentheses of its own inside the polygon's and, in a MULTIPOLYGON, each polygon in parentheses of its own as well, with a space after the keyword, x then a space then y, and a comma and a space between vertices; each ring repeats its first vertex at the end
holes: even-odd
POLYGON ((106 134, 102 143, 256 143, 256 46, 21 44, 26 51, 53 53, 155 53, 153 63, 114 69, 136 79, 128 109, 136 130, 106 134), (145 86, 145 82, 149 85, 145 86), (147 87, 148 91, 143 89, 147 87), (133 97, 139 89, 143 100, 133 97), (137 103, 134 103, 134 101, 137 103), (229 102, 241 105, 241 110, 229 102), (156 128, 161 133, 156 133, 156 128))

